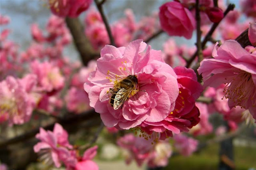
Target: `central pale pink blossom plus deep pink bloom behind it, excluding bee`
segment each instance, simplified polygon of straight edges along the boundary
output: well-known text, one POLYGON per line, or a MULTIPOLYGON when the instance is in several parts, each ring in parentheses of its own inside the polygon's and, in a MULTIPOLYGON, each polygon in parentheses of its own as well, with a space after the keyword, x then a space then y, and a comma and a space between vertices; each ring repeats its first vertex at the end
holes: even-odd
POLYGON ((120 48, 105 46, 84 90, 88 93, 90 106, 100 113, 107 127, 130 129, 139 126, 154 139, 165 139, 172 136, 172 132, 188 131, 198 124, 200 113, 195 100, 202 86, 192 69, 172 69, 163 61, 160 51, 148 46, 144 52, 146 46, 142 40, 120 48), (136 75, 138 89, 134 93, 137 93, 124 102, 122 108, 114 110, 109 101, 102 98, 128 75, 136 75))

